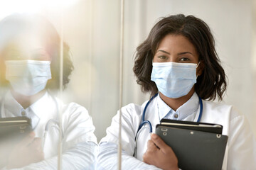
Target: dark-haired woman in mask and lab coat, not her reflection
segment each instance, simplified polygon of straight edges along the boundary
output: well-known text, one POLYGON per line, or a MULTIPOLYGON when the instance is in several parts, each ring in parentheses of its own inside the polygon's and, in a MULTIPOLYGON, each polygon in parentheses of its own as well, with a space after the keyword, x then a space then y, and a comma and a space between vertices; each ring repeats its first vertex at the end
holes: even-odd
MULTIPOLYGON (((212 102, 222 100, 227 83, 213 35, 201 19, 182 14, 162 18, 137 47, 134 74, 142 91, 153 96, 145 113, 153 132, 162 118, 223 125, 223 135, 229 137, 223 169, 256 168, 255 137, 245 115, 233 106, 212 102), (203 113, 199 116, 201 99, 203 113)), ((171 147, 158 135, 150 136, 149 123, 139 130, 146 103, 122 108, 122 167, 178 169, 171 147)), ((117 163, 110 160, 117 152, 118 114, 100 142, 98 159, 103 169, 112 169, 117 163)))

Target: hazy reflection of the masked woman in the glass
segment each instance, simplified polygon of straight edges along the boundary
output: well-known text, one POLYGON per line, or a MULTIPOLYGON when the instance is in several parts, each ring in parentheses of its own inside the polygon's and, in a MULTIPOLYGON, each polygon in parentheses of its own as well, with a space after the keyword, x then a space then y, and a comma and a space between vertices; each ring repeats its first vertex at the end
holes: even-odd
MULTIPOLYGON (((53 25, 36 15, 4 18, 0 22, 0 64, 1 86, 9 89, 1 100, 1 118, 26 116, 33 128, 8 153, 1 153, 5 158, 1 165, 6 169, 57 169, 60 111, 63 169, 92 169, 97 140, 90 115, 77 103, 64 104, 54 95, 60 86, 60 37, 53 25)), ((72 71, 69 47, 64 43, 63 87, 72 71)))

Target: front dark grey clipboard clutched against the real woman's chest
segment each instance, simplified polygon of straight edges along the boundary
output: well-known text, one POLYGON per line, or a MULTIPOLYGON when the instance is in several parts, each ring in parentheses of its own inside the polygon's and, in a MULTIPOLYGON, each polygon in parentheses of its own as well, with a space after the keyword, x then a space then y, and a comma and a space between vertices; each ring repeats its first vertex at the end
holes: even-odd
MULTIPOLYGON (((174 150, 178 158, 178 167, 183 170, 221 169, 228 136, 206 132, 205 127, 198 128, 199 125, 197 128, 201 130, 181 127, 156 125, 156 134, 174 150)), ((191 126, 188 127, 191 128, 191 126)))

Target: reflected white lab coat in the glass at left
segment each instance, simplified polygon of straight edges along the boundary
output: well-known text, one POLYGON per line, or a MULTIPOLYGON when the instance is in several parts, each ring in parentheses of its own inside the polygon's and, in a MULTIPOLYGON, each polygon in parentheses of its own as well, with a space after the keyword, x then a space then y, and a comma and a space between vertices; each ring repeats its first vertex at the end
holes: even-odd
MULTIPOLYGON (((4 117, 21 116, 25 111, 32 120, 33 128, 36 126, 36 137, 41 137, 42 140, 48 120, 58 120, 58 105, 63 113, 63 169, 94 169, 97 139, 93 133, 95 127, 92 119, 84 107, 77 103, 65 105, 48 92, 25 110, 10 92, 7 92, 4 99, 4 117)), ((58 140, 58 128, 51 126, 43 149, 45 160, 22 169, 57 169, 58 140)))

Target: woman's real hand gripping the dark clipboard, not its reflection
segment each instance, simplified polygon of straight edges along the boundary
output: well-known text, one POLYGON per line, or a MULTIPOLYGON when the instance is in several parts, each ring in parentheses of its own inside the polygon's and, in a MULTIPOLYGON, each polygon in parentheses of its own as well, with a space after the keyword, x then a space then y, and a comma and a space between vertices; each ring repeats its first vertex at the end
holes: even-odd
POLYGON ((151 134, 151 140, 148 141, 146 153, 143 155, 143 162, 164 170, 178 169, 178 159, 174 151, 156 134, 151 134))

